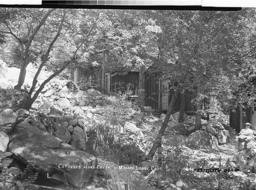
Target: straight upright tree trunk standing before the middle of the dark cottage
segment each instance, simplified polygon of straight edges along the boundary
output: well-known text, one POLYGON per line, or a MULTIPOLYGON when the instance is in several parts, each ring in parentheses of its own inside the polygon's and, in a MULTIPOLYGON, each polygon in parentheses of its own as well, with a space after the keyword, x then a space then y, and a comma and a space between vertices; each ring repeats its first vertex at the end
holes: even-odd
POLYGON ((140 108, 145 106, 145 67, 141 66, 139 70, 139 90, 138 90, 138 105, 140 108))

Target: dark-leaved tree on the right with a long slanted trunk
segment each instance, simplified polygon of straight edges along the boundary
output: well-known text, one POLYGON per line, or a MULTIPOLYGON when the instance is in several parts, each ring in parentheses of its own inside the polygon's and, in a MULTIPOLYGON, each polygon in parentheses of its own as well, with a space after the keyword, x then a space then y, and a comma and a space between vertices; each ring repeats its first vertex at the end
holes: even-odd
POLYGON ((161 11, 156 15, 163 35, 159 37, 160 61, 153 69, 169 79, 176 91, 148 156, 153 157, 161 144, 161 136, 181 89, 197 94, 197 129, 201 126, 201 105, 205 97, 229 98, 233 88, 230 81, 242 65, 233 58, 241 53, 248 40, 240 26, 244 25, 244 15, 246 11, 161 11))

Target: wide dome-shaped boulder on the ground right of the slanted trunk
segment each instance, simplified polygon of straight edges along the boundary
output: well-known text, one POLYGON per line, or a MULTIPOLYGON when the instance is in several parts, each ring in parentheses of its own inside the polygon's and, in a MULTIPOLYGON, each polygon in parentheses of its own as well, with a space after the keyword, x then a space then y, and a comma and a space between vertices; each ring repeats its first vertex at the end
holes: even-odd
POLYGON ((187 138, 187 143, 204 149, 218 149, 217 138, 214 135, 202 130, 191 133, 187 138))

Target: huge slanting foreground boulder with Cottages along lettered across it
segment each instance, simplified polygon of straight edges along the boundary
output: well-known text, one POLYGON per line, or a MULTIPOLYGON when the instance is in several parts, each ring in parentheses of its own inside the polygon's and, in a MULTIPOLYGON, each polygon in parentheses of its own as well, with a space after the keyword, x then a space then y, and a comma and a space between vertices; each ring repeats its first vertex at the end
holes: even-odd
POLYGON ((76 187, 86 185, 97 167, 94 156, 26 122, 18 123, 13 131, 9 152, 24 163, 34 163, 42 178, 62 184, 67 180, 76 187))

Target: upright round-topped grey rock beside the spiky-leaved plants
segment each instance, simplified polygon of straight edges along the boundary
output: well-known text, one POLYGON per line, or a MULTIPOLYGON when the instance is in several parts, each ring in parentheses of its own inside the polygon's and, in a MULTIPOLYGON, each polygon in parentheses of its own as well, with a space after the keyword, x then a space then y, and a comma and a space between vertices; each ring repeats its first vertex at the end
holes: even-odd
POLYGON ((73 129, 70 145, 75 147, 78 150, 82 150, 82 151, 86 150, 86 134, 78 126, 74 127, 73 129))

